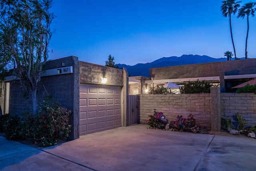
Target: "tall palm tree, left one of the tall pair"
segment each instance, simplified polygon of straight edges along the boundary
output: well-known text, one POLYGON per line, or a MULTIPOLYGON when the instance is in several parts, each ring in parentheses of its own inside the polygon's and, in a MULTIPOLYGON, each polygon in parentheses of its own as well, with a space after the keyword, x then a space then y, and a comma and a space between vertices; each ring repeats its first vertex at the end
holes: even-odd
POLYGON ((235 59, 236 59, 236 49, 235 49, 235 45, 234 45, 232 27, 231 27, 231 14, 236 14, 238 8, 240 7, 240 4, 239 4, 240 2, 241 1, 236 2, 236 0, 224 0, 224 1, 222 1, 222 6, 221 6, 222 14, 225 17, 228 16, 228 18, 229 18, 230 34, 231 34, 235 59))

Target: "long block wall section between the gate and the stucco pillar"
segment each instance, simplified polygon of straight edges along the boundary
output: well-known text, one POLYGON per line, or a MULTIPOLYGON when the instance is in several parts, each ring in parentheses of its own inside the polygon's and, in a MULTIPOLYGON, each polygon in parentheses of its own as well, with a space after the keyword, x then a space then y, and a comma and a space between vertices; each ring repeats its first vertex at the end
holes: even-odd
POLYGON ((154 109, 162 111, 168 121, 176 120, 177 115, 188 117, 191 113, 202 129, 211 129, 210 93, 204 94, 142 94, 139 95, 140 123, 154 114, 154 109))

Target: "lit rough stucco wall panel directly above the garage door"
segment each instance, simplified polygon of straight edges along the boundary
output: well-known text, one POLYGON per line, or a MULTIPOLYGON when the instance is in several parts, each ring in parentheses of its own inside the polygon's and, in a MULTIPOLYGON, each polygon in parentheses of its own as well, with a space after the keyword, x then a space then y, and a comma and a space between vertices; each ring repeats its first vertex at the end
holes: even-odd
POLYGON ((123 70, 79 61, 80 83, 102 84, 101 78, 107 78, 106 85, 123 86, 123 70))

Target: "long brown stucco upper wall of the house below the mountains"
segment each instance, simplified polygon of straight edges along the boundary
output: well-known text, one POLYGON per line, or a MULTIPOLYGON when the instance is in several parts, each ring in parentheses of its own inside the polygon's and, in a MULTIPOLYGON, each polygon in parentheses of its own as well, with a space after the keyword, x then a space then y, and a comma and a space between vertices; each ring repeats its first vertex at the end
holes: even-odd
POLYGON ((150 68, 149 75, 150 77, 154 77, 154 80, 162 80, 174 78, 219 76, 220 72, 224 72, 226 76, 255 74, 255 66, 256 59, 232 60, 205 64, 150 68))

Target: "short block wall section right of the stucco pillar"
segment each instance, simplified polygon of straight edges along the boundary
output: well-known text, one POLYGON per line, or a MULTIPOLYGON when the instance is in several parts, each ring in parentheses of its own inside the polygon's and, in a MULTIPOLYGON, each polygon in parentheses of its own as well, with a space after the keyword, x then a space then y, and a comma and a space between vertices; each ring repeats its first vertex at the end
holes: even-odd
POLYGON ((254 93, 220 93, 221 117, 231 119, 231 126, 237 129, 236 113, 246 119, 244 128, 256 125, 256 95, 254 93))

